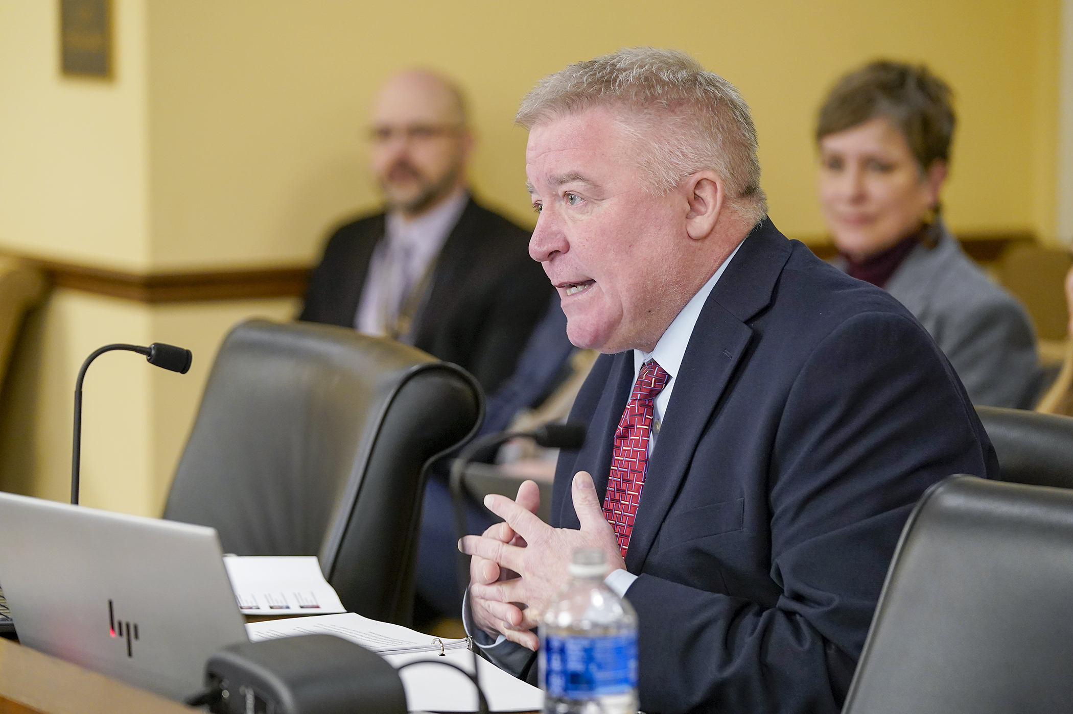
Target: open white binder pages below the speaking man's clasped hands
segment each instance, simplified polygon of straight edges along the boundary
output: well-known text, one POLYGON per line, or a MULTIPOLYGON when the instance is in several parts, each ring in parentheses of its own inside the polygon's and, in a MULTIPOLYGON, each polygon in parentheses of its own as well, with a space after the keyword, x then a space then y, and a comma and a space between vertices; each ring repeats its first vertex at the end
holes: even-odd
MULTIPOLYGON (((246 630, 251 642, 294 635, 335 635, 377 652, 394 667, 431 659, 449 661, 467 672, 473 671, 473 654, 466 648, 466 640, 432 638, 353 612, 250 623, 246 625, 246 630)), ((532 712, 543 709, 544 693, 536 687, 511 676, 485 659, 479 658, 477 667, 481 668, 481 689, 491 711, 532 712)), ((450 667, 415 665, 402 670, 399 675, 411 712, 476 711, 473 683, 450 667)))

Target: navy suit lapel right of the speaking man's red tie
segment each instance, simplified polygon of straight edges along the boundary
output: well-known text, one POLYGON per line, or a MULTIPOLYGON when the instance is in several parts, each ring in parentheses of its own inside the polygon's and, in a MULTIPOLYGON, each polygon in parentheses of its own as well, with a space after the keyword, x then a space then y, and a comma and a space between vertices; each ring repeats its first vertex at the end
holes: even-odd
MULTIPOLYGON (((790 241, 765 219, 746 238, 701 311, 649 457, 626 557, 631 572, 641 572, 644 567, 696 445, 743 362, 752 337, 752 329, 745 323, 770 302, 791 250, 790 241)), ((606 485, 606 473, 603 478, 606 485)))

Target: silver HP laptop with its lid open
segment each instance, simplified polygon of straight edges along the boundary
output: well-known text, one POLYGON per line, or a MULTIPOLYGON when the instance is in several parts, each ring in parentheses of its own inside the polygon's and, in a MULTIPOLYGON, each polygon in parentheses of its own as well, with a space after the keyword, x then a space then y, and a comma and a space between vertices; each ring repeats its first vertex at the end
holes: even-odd
POLYGON ((23 644, 175 700, 247 641, 201 525, 0 492, 0 587, 23 644))

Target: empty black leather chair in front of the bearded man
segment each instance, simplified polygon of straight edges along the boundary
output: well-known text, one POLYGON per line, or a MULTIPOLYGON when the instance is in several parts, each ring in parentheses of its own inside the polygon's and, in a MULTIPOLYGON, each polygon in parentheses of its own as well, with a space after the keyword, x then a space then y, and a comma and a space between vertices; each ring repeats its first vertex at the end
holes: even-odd
POLYGON ((431 462, 483 417, 469 373, 413 347, 251 321, 212 366, 164 518, 225 552, 319 555, 348 610, 408 624, 431 462))

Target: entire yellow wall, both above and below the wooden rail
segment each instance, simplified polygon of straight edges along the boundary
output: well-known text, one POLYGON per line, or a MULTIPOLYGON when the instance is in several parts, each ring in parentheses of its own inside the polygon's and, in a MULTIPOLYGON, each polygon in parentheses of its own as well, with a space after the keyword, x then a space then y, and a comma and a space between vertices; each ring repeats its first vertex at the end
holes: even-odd
MULTIPOLYGON (((518 101, 569 62, 643 44, 685 49, 740 88, 771 215, 792 237, 824 234, 817 106, 879 56, 926 61, 957 92, 952 226, 1056 235, 1058 0, 114 4, 116 78, 99 81, 60 75, 58 2, 0 0, 0 250, 135 272, 310 263, 330 224, 376 206, 368 104, 414 64, 469 90, 476 190, 531 223, 518 101)), ((85 502, 159 512, 222 336, 294 308, 57 292, 8 381, 0 488, 65 499, 82 359, 109 341, 172 341, 194 349, 190 374, 107 355, 86 386, 85 502)))

